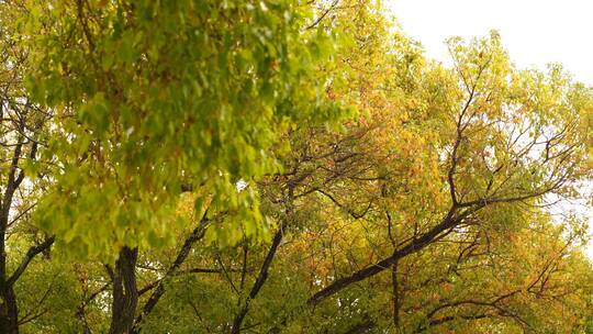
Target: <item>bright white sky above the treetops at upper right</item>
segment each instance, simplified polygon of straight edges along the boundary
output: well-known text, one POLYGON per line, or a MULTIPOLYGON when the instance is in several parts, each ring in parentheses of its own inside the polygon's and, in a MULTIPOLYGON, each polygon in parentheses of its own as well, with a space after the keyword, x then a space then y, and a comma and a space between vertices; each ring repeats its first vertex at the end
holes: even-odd
MULTIPOLYGON (((593 0, 383 0, 430 58, 450 64, 444 41, 497 30, 519 68, 560 63, 593 85, 593 0)), ((583 209, 586 210, 586 209, 583 209)), ((593 233, 593 222, 591 222, 593 233)), ((588 254, 593 259, 593 243, 588 254)))

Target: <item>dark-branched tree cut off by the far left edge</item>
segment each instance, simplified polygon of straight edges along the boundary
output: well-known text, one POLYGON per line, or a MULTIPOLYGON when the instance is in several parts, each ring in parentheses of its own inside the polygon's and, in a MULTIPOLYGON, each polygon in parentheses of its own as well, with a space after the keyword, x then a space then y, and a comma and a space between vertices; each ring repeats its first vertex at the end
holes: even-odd
POLYGON ((33 103, 23 88, 29 59, 9 23, 14 13, 2 7, 0 20, 0 332, 12 334, 33 315, 19 313, 15 286, 31 261, 47 256, 54 243, 54 236, 31 222, 48 185, 47 160, 40 160, 40 153, 52 112, 33 103))

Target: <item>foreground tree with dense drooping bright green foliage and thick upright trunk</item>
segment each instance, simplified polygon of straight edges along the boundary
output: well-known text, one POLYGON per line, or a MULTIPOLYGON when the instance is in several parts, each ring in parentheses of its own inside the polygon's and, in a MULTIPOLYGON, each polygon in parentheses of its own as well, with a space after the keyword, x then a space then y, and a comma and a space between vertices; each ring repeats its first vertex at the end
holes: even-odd
MULTIPOLYGON (((235 212, 220 240, 267 236, 257 196, 278 170, 267 153, 296 122, 340 116, 320 98, 334 32, 303 32, 292 1, 63 1, 30 4, 33 98, 56 111, 49 152, 61 171, 41 225, 113 282, 111 333, 132 331, 138 247, 164 244, 181 192, 235 212), (312 85, 313 82, 313 85, 312 85)), ((169 241, 171 244, 171 241, 169 241)))

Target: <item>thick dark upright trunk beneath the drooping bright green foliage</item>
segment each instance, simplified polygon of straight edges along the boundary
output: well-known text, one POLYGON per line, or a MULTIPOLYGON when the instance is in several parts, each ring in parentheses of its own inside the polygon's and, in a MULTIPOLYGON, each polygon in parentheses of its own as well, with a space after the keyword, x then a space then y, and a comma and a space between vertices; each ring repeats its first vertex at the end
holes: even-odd
POLYGON ((138 304, 136 260, 138 249, 124 247, 113 270, 113 303, 110 334, 130 334, 138 304))

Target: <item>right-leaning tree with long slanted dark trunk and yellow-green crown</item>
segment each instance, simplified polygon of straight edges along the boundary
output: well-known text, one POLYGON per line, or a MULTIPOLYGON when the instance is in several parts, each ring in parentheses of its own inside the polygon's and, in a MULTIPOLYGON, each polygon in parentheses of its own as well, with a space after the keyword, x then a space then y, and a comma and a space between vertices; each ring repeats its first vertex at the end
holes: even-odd
POLYGON ((586 134, 580 120, 590 92, 570 85, 558 67, 548 76, 513 70, 497 35, 469 47, 459 42, 450 43, 458 81, 428 87, 439 89, 428 93, 444 103, 428 108, 450 125, 436 129, 440 147, 430 154, 449 198, 435 208, 436 216, 419 220, 411 236, 403 235, 392 255, 324 287, 312 296, 311 305, 383 271, 482 211, 512 212, 513 203, 537 204, 550 192, 568 194, 573 180, 585 176, 586 134), (444 88, 449 91, 445 97, 444 88))

